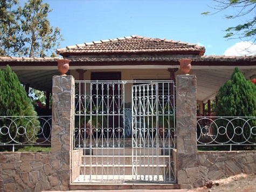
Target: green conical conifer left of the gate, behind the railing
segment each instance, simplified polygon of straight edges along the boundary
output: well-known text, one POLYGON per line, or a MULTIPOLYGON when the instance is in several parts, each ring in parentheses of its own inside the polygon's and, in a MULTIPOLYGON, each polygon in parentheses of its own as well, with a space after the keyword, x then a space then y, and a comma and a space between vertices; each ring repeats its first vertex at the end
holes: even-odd
MULTIPOLYGON (((0 69, 0 95, 0 116, 37 116, 25 89, 9 66, 6 70, 0 69)), ((9 133, 13 139, 20 143, 29 143, 29 141, 36 140, 39 122, 37 117, 1 118, 1 143, 11 141, 8 134, 3 135, 8 132, 6 128, 3 129, 4 126, 10 127, 9 133), (13 119, 16 120, 13 121, 13 119)))

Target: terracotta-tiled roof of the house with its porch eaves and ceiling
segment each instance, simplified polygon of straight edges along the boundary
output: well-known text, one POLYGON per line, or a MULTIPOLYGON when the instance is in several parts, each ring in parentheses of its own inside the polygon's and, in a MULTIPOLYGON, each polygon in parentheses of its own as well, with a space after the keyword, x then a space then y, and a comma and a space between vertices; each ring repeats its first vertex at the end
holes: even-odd
MULTIPOLYGON (((179 60, 192 59, 190 74, 197 76, 197 101, 202 108, 215 98, 219 87, 238 67, 247 80, 255 78, 255 56, 204 55, 205 48, 188 42, 147 38, 139 35, 85 42, 60 48, 70 60, 68 74, 75 80, 175 80, 179 60)), ((20 82, 51 93, 52 76, 59 75, 59 58, 0 57, 0 67, 10 65, 20 82)), ((127 95, 127 102, 130 94, 127 95)), ((202 112, 202 109, 201 111, 202 112)))

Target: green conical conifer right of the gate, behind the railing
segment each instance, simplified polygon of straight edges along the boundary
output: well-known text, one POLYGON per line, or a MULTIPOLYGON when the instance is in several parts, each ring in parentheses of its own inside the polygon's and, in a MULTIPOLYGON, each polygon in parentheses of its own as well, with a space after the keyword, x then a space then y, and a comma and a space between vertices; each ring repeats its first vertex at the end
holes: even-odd
POLYGON ((237 143, 255 142, 256 120, 239 118, 256 117, 255 85, 250 80, 246 80, 243 73, 236 67, 231 75, 231 80, 219 89, 217 98, 216 115, 225 118, 216 121, 217 126, 212 126, 215 128, 213 130, 215 134, 217 134, 217 127, 219 127, 216 141, 222 143, 229 143, 229 140, 237 143), (232 117, 238 118, 231 120, 232 117))

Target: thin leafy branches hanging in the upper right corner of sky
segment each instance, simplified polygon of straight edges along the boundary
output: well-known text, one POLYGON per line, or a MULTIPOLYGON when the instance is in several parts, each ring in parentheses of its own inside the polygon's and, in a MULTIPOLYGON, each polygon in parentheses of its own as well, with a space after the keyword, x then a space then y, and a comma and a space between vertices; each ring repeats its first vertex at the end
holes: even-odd
MULTIPOLYGON (((213 7, 216 11, 213 13, 225 11, 227 9, 233 9, 237 12, 234 15, 226 15, 227 19, 235 19, 235 18, 245 18, 250 13, 253 13, 254 16, 252 18, 246 19, 243 23, 228 27, 225 31, 227 32, 224 38, 240 38, 244 40, 251 40, 255 42, 255 34, 256 34, 256 16, 255 16, 255 7, 256 0, 213 0, 218 4, 213 7)), ((211 12, 207 11, 202 13, 203 15, 209 15, 211 12)))

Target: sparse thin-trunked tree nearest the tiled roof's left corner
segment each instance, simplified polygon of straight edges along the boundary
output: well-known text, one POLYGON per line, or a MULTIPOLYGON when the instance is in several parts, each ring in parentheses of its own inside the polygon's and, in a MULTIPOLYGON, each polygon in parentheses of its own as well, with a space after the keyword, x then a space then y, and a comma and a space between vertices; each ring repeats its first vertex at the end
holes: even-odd
POLYGON ((23 39, 28 45, 24 47, 24 54, 28 54, 29 57, 46 56, 48 51, 59 45, 60 29, 53 29, 47 19, 48 13, 52 11, 49 4, 42 4, 42 0, 29 0, 19 11, 22 15, 23 39))

